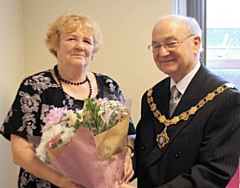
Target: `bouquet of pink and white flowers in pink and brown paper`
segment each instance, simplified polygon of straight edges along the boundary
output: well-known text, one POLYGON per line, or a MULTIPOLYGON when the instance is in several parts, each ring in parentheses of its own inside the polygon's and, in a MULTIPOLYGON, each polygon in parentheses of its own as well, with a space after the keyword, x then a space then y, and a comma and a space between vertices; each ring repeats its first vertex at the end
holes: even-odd
POLYGON ((44 119, 36 155, 84 187, 119 187, 129 119, 128 109, 113 100, 88 98, 76 112, 54 108, 44 119))

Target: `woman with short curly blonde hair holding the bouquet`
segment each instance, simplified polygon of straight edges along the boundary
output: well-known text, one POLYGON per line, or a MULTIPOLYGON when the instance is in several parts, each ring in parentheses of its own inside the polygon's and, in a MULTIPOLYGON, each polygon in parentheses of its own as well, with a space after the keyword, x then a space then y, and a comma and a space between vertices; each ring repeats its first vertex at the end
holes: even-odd
MULTIPOLYGON (((0 128, 0 133, 11 140, 14 163, 21 167, 18 187, 79 187, 41 162, 27 138, 29 135, 41 136, 43 117, 54 107, 82 109, 85 98, 108 98, 125 103, 113 79, 87 71, 101 43, 101 30, 90 16, 67 13, 50 26, 46 45, 57 58, 57 65, 22 81, 0 128)), ((134 134, 135 129, 130 122, 128 135, 134 134)), ((128 139, 128 144, 133 147, 133 139, 128 139)), ((133 175, 130 149, 128 154, 124 182, 133 175)))

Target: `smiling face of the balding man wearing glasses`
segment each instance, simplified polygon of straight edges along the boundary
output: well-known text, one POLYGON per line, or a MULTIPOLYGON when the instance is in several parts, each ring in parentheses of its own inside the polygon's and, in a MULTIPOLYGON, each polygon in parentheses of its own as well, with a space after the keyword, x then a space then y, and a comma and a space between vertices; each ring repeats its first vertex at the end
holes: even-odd
POLYGON ((157 67, 179 82, 198 62, 200 37, 187 33, 181 22, 164 18, 152 32, 153 58, 157 67))

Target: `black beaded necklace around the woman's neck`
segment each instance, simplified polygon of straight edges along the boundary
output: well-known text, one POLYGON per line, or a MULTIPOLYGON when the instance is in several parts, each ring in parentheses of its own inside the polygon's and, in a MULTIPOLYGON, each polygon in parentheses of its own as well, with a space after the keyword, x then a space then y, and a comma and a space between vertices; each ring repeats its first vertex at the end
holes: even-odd
POLYGON ((82 81, 82 82, 77 82, 77 83, 70 82, 70 81, 64 80, 64 79, 60 76, 60 74, 59 74, 59 72, 58 72, 57 65, 54 66, 54 74, 55 74, 56 77, 57 77, 57 80, 58 80, 58 82, 59 82, 59 85, 60 85, 60 88, 61 88, 61 91, 62 91, 64 97, 66 97, 66 96, 65 96, 65 93, 64 93, 64 90, 63 90, 63 87, 62 87, 62 82, 67 83, 67 84, 70 84, 70 85, 81 85, 81 84, 84 84, 84 83, 87 82, 88 85, 89 85, 89 94, 88 94, 88 98, 91 97, 91 95, 92 95, 92 84, 91 84, 91 82, 90 82, 90 80, 89 80, 89 78, 88 78, 87 75, 86 75, 85 80, 82 81))

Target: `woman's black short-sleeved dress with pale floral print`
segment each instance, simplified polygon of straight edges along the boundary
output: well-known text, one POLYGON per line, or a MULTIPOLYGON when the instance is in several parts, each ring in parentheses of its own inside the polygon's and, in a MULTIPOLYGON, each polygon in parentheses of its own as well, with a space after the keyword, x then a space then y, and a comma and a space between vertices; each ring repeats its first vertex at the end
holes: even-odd
MULTIPOLYGON (((108 98, 125 103, 118 84, 106 75, 94 73, 98 84, 96 98, 108 98)), ((74 99, 66 93, 54 80, 50 70, 43 71, 25 78, 17 92, 16 98, 9 110, 0 133, 8 140, 10 134, 27 139, 28 136, 41 136, 44 126, 43 118, 54 107, 82 109, 83 101, 74 99)), ((128 134, 135 134, 133 123, 129 123, 128 134)), ((55 188, 51 183, 36 178, 24 169, 20 169, 18 177, 19 188, 55 188)))

